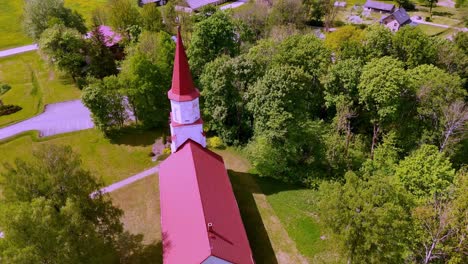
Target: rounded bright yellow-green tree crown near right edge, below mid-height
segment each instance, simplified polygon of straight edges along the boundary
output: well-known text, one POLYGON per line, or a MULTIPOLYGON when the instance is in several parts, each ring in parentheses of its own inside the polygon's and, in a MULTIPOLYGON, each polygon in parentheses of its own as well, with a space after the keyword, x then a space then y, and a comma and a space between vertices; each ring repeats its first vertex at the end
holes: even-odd
POLYGON ((422 145, 400 162, 395 177, 419 199, 442 195, 453 181, 455 170, 436 146, 422 145))

